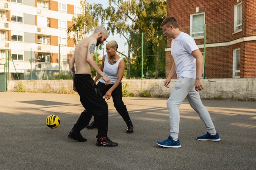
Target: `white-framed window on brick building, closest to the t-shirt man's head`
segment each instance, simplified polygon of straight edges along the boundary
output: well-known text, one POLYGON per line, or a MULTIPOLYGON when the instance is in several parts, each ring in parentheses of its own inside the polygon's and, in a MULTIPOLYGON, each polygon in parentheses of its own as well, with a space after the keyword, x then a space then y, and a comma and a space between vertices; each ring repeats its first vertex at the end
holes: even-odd
POLYGON ((204 13, 190 15, 190 35, 195 38, 204 38, 204 13))

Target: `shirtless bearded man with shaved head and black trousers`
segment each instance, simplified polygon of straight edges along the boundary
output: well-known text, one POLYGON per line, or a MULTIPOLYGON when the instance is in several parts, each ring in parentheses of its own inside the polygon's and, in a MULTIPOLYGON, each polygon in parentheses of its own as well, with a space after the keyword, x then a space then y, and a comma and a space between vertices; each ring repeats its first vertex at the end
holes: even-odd
POLYGON ((104 79, 106 85, 110 84, 110 79, 103 74, 96 62, 93 60, 95 46, 103 44, 108 38, 108 32, 103 26, 95 29, 94 33, 81 40, 75 49, 74 55, 68 62, 70 73, 73 79, 73 90, 77 91, 80 101, 85 110, 81 113, 76 124, 74 124, 69 138, 77 141, 86 141, 80 131, 94 119, 99 122, 98 134, 96 136, 97 146, 117 146, 107 136, 108 131, 108 104, 103 99, 101 92, 91 76, 90 66, 104 79), (76 65, 76 66, 75 66, 76 65), (76 69, 75 69, 76 68, 76 69))

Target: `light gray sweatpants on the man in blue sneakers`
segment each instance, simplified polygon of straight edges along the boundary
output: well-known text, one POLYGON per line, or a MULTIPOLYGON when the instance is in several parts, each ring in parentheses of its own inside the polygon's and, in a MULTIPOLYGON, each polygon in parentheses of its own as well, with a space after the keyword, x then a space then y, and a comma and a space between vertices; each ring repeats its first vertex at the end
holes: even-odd
POLYGON ((202 104, 199 93, 195 91, 195 79, 180 77, 166 103, 169 111, 171 137, 179 138, 179 108, 185 98, 189 100, 190 106, 198 113, 200 119, 204 122, 207 131, 209 133, 215 133, 216 130, 211 120, 211 116, 202 104))

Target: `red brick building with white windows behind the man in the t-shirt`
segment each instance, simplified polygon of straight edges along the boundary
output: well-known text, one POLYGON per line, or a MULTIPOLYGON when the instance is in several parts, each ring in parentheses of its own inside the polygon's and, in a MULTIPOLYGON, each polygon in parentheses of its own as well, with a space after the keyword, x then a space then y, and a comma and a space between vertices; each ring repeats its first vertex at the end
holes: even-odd
MULTIPOLYGON (((205 58, 203 78, 255 78, 255 7, 255 0, 167 0, 167 15, 195 39, 205 58)), ((167 47, 166 76, 171 39, 167 47)))

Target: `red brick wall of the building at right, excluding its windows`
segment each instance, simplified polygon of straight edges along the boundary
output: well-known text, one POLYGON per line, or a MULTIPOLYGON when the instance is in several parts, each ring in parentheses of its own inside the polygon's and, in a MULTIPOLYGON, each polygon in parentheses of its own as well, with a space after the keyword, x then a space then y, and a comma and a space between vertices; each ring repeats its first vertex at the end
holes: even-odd
MULTIPOLYGON (((185 33, 189 34, 190 14, 195 13, 196 7, 199 8, 199 12, 205 13, 208 47, 205 53, 204 73, 207 78, 232 78, 233 49, 238 47, 241 52, 240 78, 256 77, 256 42, 244 41, 245 37, 256 35, 256 1, 243 0, 243 28, 242 32, 238 33, 234 33, 236 3, 237 0, 167 0, 167 15, 176 18, 180 30, 185 33), (234 44, 234 40, 238 42, 234 44)), ((203 46, 204 39, 197 39, 195 42, 203 46)), ((167 47, 170 45, 171 39, 168 39, 167 47)), ((171 51, 166 51, 166 76, 172 65, 170 55, 171 51)))

